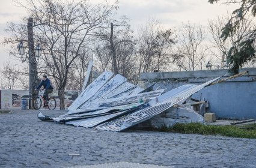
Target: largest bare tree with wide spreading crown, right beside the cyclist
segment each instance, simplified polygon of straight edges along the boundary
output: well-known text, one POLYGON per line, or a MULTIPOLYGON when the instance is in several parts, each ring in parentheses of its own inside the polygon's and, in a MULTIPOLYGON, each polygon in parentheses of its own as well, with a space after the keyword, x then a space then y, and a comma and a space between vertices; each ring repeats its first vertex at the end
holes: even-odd
POLYGON ((25 0, 17 3, 34 17, 35 41, 43 44, 43 62, 39 73, 47 73, 55 80, 64 109, 64 89, 72 64, 90 44, 90 37, 105 23, 109 23, 114 5, 91 5, 89 1, 25 0), (26 3, 25 3, 26 2, 26 3))

